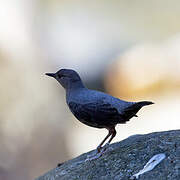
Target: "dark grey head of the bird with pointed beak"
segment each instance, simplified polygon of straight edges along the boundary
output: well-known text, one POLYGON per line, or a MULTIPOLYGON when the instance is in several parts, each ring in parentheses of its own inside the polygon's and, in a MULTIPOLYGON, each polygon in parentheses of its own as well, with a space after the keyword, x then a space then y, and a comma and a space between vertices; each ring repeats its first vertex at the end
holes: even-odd
POLYGON ((46 75, 55 78, 65 89, 82 84, 79 74, 72 69, 60 69, 56 73, 46 73, 46 75))

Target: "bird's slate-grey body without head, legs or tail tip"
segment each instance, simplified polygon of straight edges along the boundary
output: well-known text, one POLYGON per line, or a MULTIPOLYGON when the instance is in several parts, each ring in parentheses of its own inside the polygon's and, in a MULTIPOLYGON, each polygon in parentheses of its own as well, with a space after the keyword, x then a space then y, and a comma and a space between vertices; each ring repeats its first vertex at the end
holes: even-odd
POLYGON ((123 101, 86 88, 67 94, 67 104, 77 119, 98 128, 125 123, 142 107, 138 103, 123 101))

